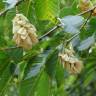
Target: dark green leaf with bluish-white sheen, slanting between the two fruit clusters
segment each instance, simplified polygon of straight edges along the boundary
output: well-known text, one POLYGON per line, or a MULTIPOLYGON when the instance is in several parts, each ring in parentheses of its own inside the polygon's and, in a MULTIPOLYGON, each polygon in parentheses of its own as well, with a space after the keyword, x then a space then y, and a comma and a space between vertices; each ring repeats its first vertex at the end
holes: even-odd
POLYGON ((48 56, 48 52, 44 52, 29 60, 28 62, 29 68, 27 67, 25 80, 36 77, 39 74, 41 68, 45 64, 47 56, 48 56))

